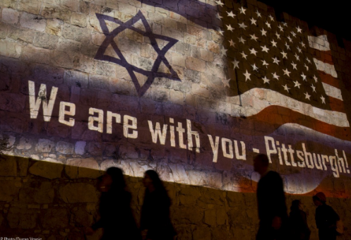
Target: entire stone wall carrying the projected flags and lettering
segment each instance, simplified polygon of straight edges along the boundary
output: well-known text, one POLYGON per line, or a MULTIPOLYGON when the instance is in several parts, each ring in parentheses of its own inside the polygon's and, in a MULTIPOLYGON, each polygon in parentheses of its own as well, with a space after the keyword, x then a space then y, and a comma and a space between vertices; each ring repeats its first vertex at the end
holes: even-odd
POLYGON ((318 191, 350 237, 350 42, 255 0, 5 0, 0 20, 1 234, 83 239, 117 166, 136 218, 155 169, 179 239, 254 239, 261 152, 311 239, 318 191))

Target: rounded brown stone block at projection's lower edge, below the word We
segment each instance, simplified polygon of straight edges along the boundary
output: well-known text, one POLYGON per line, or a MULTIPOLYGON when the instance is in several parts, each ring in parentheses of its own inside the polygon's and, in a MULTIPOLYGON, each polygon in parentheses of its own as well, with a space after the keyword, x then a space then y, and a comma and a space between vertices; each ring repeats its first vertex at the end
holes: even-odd
POLYGON ((43 161, 35 162, 29 168, 30 174, 42 176, 47 179, 58 179, 61 177, 64 164, 51 158, 46 158, 43 161))

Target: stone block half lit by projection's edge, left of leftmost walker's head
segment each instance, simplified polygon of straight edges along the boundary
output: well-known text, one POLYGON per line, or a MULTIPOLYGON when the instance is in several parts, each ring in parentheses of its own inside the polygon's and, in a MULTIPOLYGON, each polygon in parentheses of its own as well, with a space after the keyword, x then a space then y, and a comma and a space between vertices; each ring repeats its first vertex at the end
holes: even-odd
POLYGON ((99 171, 99 164, 94 158, 69 158, 65 172, 71 179, 96 179, 102 175, 102 172, 99 171))

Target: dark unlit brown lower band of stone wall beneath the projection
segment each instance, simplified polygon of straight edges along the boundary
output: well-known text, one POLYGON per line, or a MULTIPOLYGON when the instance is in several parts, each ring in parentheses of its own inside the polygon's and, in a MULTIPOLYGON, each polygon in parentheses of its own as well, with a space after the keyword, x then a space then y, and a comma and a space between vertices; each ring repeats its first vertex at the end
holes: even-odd
MULTIPOLYGON (((112 166, 109 166, 112 167, 112 166)), ((102 171, 24 157, 1 155, 0 232, 8 237, 85 239, 85 227, 97 219, 102 171)), ((141 178, 126 176, 131 208, 139 222, 144 188, 141 178)), ((257 229, 256 194, 165 182, 172 199, 171 217, 178 239, 254 239, 257 229)), ((297 196, 287 196, 287 205, 297 196)), ((316 238, 311 197, 299 196, 316 238)), ((330 198, 335 210, 347 209, 350 199, 330 198)), ((350 218, 343 219, 345 226, 350 218)), ((86 239, 99 239, 101 232, 86 239)), ((346 231, 344 238, 350 236, 346 231)))

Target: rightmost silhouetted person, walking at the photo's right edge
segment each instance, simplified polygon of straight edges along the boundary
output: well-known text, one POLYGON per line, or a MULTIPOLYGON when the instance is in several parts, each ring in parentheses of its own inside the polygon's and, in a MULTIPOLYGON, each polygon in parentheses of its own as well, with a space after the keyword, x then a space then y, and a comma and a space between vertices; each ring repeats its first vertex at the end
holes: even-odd
POLYGON ((336 239, 336 222, 340 220, 339 215, 326 205, 326 196, 319 192, 312 198, 316 208, 316 225, 318 228, 319 240, 335 240, 336 239))

